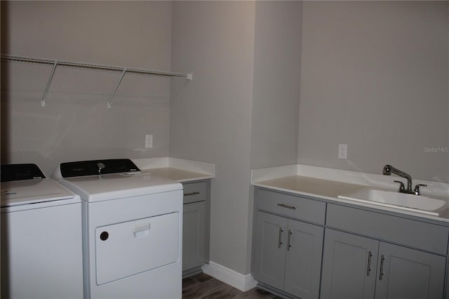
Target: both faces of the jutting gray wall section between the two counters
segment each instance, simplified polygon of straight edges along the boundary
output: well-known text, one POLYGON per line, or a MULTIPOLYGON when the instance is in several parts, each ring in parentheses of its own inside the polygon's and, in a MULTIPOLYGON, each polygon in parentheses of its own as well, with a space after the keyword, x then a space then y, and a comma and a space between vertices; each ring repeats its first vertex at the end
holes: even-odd
POLYGON ((250 169, 295 164, 301 2, 177 1, 170 157, 215 163, 210 260, 250 272, 250 169))

